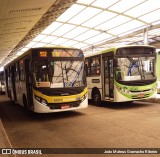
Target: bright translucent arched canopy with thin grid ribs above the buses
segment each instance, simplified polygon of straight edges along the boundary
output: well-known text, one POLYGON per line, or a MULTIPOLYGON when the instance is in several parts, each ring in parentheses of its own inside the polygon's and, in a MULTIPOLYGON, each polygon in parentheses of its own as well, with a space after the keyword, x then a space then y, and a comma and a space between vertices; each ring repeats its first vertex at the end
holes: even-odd
POLYGON ((141 45, 144 36, 145 43, 153 44, 160 41, 159 34, 159 0, 77 0, 29 43, 18 45, 10 58, 31 47, 69 46, 90 54, 113 46, 141 45))

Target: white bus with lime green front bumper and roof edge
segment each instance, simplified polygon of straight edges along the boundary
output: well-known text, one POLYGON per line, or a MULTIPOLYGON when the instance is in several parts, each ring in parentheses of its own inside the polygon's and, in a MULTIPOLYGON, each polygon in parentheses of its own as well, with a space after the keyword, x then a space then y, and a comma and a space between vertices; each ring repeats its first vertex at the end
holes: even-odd
POLYGON ((156 51, 152 46, 128 45, 85 57, 88 97, 125 102, 155 98, 156 51))

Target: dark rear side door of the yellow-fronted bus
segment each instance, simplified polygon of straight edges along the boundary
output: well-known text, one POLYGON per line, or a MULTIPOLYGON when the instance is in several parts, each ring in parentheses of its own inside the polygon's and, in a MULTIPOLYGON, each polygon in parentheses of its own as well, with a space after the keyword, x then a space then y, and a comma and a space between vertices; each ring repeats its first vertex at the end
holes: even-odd
POLYGON ((16 72, 15 65, 13 65, 11 67, 11 83, 12 83, 13 100, 17 101, 16 85, 15 85, 15 82, 16 82, 15 72, 16 72))

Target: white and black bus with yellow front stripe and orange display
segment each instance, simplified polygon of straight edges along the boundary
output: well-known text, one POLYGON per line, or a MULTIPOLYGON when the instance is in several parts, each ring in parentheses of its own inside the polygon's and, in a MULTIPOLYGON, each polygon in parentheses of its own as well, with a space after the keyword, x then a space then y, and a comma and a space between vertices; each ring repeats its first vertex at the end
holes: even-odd
POLYGON ((88 106, 83 52, 32 48, 5 66, 9 98, 27 110, 60 112, 88 106))

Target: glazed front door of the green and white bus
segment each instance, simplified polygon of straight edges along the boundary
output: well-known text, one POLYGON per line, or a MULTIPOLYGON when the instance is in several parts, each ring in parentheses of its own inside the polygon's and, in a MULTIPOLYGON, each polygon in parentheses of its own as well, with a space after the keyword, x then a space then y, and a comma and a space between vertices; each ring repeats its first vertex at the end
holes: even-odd
POLYGON ((104 58, 104 94, 105 99, 113 100, 114 77, 113 77, 113 57, 104 58))

